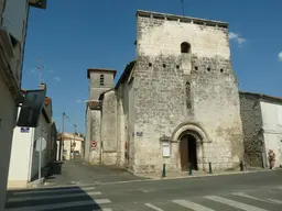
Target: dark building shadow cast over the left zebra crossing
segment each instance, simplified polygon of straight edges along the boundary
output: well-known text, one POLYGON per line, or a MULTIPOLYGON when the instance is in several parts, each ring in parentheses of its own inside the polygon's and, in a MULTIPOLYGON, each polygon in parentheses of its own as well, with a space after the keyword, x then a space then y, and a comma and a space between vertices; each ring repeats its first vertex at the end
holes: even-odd
POLYGON ((78 186, 64 188, 41 188, 9 190, 6 209, 20 210, 53 210, 53 211, 93 211, 100 210, 99 203, 109 203, 107 199, 95 199, 100 192, 91 187, 87 190, 78 186))

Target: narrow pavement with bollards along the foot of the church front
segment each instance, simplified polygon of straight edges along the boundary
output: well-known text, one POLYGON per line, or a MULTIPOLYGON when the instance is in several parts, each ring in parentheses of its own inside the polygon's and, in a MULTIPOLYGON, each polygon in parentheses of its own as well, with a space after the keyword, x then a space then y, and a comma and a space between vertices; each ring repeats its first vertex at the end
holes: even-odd
MULTIPOLYGON (((282 170, 282 168, 275 168, 273 170, 282 170)), ((239 175, 239 174, 251 174, 251 173, 261 173, 261 171, 271 171, 271 169, 262 169, 262 168, 249 168, 248 170, 239 171, 218 171, 208 174, 206 171, 193 170, 192 176, 188 175, 188 171, 180 171, 180 173, 166 173, 165 177, 162 177, 162 171, 160 173, 148 173, 148 174, 133 174, 138 177, 145 179, 183 179, 183 178, 198 178, 198 177, 214 177, 214 176, 224 176, 224 175, 239 175)))

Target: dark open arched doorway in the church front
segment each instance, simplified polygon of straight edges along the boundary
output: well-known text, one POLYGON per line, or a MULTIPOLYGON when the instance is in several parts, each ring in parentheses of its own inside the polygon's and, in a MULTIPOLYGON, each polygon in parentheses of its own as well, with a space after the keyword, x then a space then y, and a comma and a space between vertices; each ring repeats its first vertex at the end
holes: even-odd
POLYGON ((192 134, 185 134, 180 141, 180 155, 182 170, 188 170, 189 164, 194 170, 197 166, 197 138, 192 134))

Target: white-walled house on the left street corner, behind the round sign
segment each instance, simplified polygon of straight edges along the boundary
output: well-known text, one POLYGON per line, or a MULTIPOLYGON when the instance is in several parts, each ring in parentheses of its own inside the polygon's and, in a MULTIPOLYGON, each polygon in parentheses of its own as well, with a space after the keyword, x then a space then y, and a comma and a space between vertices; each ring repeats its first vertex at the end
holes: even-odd
MULTIPOLYGON (((20 110, 20 109, 19 109, 20 110)), ((20 112, 20 111, 19 111, 20 112)), ((37 138, 44 137, 43 152, 41 154, 41 168, 54 160, 55 137, 54 122, 52 122, 52 101, 45 98, 39 126, 19 127, 13 132, 12 151, 10 158, 8 188, 23 188, 30 181, 37 179, 39 174, 39 152, 36 151, 37 138)))

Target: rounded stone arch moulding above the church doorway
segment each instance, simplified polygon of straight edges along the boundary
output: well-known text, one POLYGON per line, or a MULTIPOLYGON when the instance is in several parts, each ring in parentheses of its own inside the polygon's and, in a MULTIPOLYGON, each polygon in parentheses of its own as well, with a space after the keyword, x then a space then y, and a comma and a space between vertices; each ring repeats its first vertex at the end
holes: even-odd
POLYGON ((194 135, 197 138, 197 142, 212 142, 205 130, 200 126, 200 124, 195 122, 184 122, 180 124, 172 133, 172 141, 178 142, 182 135, 184 134, 194 135))

